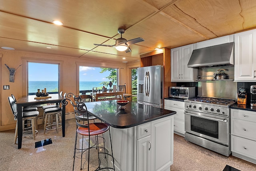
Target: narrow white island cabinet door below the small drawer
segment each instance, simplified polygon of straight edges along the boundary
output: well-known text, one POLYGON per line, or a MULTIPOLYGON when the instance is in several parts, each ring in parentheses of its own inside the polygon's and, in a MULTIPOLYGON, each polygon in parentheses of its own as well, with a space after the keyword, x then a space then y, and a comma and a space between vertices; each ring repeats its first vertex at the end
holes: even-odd
POLYGON ((137 140, 137 171, 150 171, 151 136, 137 140))

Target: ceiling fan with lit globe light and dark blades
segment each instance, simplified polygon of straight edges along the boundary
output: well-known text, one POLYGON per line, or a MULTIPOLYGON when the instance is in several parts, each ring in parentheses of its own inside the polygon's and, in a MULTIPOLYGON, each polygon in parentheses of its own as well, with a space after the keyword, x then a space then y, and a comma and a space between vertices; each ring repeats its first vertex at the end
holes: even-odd
POLYGON ((118 51, 125 51, 127 53, 127 52, 132 52, 131 48, 129 47, 131 44, 136 44, 138 42, 144 41, 144 39, 142 39, 142 38, 126 40, 125 38, 122 38, 122 34, 124 34, 124 32, 125 32, 124 28, 118 28, 118 33, 121 34, 121 38, 116 39, 116 44, 114 44, 114 45, 106 45, 106 44, 94 44, 94 45, 114 47, 118 51))

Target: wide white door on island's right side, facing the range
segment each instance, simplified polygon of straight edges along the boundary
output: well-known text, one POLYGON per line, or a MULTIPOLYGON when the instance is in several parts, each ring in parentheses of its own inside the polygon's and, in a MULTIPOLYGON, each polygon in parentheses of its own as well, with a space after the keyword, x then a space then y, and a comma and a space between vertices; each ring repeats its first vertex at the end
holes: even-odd
POLYGON ((151 123, 151 170, 170 170, 173 163, 173 115, 151 123))

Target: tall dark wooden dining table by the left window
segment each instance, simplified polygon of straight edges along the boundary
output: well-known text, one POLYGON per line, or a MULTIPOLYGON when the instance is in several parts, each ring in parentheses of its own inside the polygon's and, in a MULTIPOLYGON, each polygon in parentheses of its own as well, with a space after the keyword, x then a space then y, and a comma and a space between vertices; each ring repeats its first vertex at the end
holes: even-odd
MULTIPOLYGON (((22 146, 22 133, 23 133, 23 126, 22 126, 22 109, 24 106, 31 106, 31 105, 41 105, 46 103, 61 103, 63 97, 59 93, 56 94, 49 94, 50 98, 44 97, 40 99, 35 99, 36 95, 26 95, 20 97, 17 104, 17 110, 18 110, 18 149, 22 146)), ((62 105, 62 136, 65 137, 65 112, 66 112, 66 106, 62 105)))

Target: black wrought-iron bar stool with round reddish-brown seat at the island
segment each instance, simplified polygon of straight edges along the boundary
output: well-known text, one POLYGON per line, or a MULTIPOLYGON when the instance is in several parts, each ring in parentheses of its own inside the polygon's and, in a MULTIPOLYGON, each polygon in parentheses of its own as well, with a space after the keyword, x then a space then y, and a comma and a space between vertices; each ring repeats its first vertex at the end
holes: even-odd
MULTIPOLYGON (((77 125, 77 129, 76 129, 76 139, 75 139, 75 147, 74 147, 74 161, 73 161, 73 171, 74 171, 74 165, 75 165, 75 158, 76 158, 76 143, 77 143, 77 136, 78 134, 82 135, 82 136, 88 136, 89 140, 88 142, 90 142, 90 136, 96 136, 97 137, 97 145, 96 147, 98 147, 98 163, 99 166, 95 171, 101 170, 101 169, 112 169, 115 170, 114 166, 112 167, 105 167, 105 168, 101 168, 100 167, 100 152, 99 148, 104 148, 104 147, 99 147, 98 145, 98 135, 105 133, 106 131, 110 130, 109 129, 109 125, 107 125, 106 123, 102 123, 102 122, 93 122, 93 123, 89 123, 89 115, 87 112, 87 107, 85 105, 85 103, 80 102, 77 104, 77 107, 74 107, 74 111, 76 112, 76 125, 77 125), (79 117, 79 115, 84 115, 84 117, 79 117), (80 122, 82 121, 82 122, 80 122)), ((111 154, 104 152, 105 155, 109 155, 110 157, 112 157, 113 160, 113 165, 114 165, 114 157, 113 157, 113 150, 112 150, 112 141, 111 141, 111 134, 109 131, 109 137, 110 137, 110 146, 111 146, 111 154)), ((81 165, 80 165, 80 170, 82 170, 82 155, 85 151, 88 151, 88 171, 90 168, 90 149, 92 147, 90 147, 90 143, 88 143, 88 148, 83 149, 83 141, 82 141, 82 149, 81 150, 81 165)))

